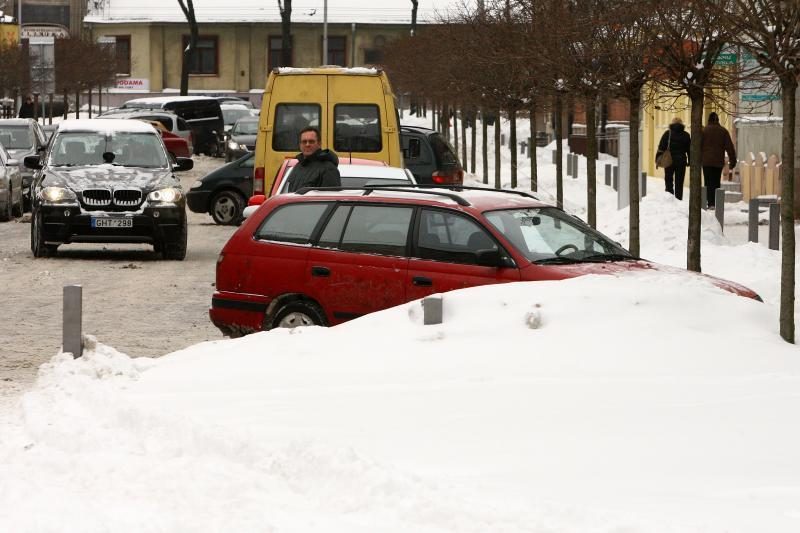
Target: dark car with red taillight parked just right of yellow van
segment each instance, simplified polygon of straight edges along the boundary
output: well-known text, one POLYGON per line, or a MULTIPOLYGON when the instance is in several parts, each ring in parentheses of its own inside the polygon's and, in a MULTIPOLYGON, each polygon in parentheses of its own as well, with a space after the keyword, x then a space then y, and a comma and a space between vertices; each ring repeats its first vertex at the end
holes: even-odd
POLYGON ((453 147, 436 130, 420 126, 400 126, 403 163, 418 183, 459 185, 464 170, 453 147))

